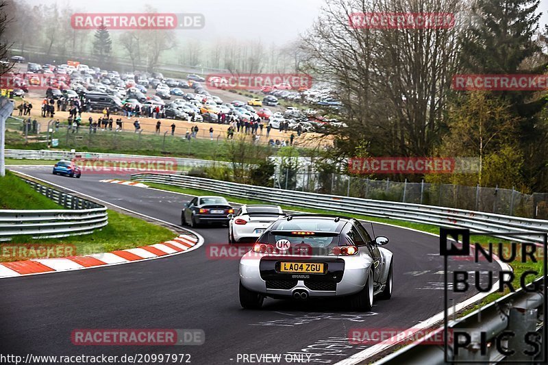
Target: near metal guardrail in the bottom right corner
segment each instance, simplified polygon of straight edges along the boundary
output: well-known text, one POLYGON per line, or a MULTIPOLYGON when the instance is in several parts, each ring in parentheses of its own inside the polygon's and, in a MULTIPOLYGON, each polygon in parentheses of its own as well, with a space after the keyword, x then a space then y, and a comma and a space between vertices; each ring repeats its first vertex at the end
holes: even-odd
MULTIPOLYGON (((528 286, 528 290, 531 290, 532 286, 542 288, 545 285, 544 278, 539 278, 528 286)), ((543 363, 535 355, 528 356, 524 352, 532 351, 530 344, 524 341, 526 333, 539 333, 542 331, 540 333, 542 336, 541 341, 546 340, 546 336, 543 336, 546 333, 546 328, 543 327, 545 325, 543 317, 547 299, 540 292, 527 292, 523 288, 519 289, 459 320, 448 323, 447 331, 452 332, 453 336, 459 331, 471 336, 470 344, 461 347, 458 354, 449 346, 447 353, 445 353, 443 344, 440 345, 436 341, 432 341, 432 337, 436 334, 433 331, 429 333, 429 336, 425 336, 425 338, 396 351, 392 355, 384 357, 375 364, 442 365, 453 362, 456 364, 459 362, 493 364, 501 362, 501 360, 521 364, 543 363), (486 347, 486 353, 482 354, 482 351, 480 351, 482 347, 480 333, 485 334, 484 343, 487 344, 493 342, 504 331, 510 331, 514 335, 507 337, 508 342, 504 346, 506 349, 514 351, 514 353, 504 356, 497 351, 497 346, 491 343, 486 347), (446 360, 448 361, 446 362, 446 360)), ((447 336, 449 342, 451 342, 451 337, 451 335, 447 336)), ((436 338, 443 338, 443 336, 436 336, 436 338)), ((540 347, 542 346, 544 344, 540 344, 540 347)), ((544 356, 546 357, 548 354, 544 353, 544 356)), ((369 362, 367 363, 369 364, 369 362)))

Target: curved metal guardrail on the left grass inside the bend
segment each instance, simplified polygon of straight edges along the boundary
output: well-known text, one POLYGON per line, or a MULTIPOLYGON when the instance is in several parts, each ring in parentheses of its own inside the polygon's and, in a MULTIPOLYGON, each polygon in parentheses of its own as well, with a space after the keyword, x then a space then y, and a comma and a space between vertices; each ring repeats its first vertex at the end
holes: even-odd
POLYGON ((91 234, 108 224, 107 208, 22 178, 65 210, 0 210, 0 241, 13 236, 56 238, 91 234))

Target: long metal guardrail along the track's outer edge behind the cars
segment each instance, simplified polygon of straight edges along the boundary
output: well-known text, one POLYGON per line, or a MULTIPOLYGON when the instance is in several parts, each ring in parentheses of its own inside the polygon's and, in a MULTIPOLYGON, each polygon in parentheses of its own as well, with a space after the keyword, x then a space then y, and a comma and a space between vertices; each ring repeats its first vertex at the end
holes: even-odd
POLYGON ((516 242, 542 242, 542 235, 534 235, 527 232, 548 232, 548 221, 473 212, 471 210, 436 207, 433 205, 316 194, 313 192, 282 190, 264 186, 252 186, 228 181, 203 179, 200 177, 160 173, 138 173, 132 175, 132 179, 181 186, 183 188, 208 190, 232 195, 234 197, 268 201, 270 203, 297 205, 381 218, 393 218, 402 221, 427 223, 438 226, 461 227, 470 229, 472 233, 495 234, 499 238, 514 240, 516 242), (514 233, 523 232, 523 236, 504 236, 504 233, 509 231, 514 233))

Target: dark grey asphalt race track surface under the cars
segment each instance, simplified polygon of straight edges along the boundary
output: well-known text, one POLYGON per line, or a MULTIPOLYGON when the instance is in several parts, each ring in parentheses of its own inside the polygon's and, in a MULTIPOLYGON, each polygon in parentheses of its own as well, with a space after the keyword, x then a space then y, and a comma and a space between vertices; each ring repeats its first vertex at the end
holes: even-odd
MULTIPOLYGON (((71 179, 51 175, 51 166, 10 168, 175 225, 180 224, 183 203, 190 200, 182 194, 99 182, 129 179, 128 175, 71 179)), ((365 227, 371 233, 371 226, 365 227)), ((335 364, 367 347, 349 343, 351 329, 407 329, 443 310, 443 258, 436 236, 375 224, 377 236, 390 238, 386 248, 393 251, 395 261, 393 297, 376 301, 373 312, 350 312, 340 299, 266 299, 262 310, 254 311, 243 310, 238 301, 238 258, 210 260, 206 255, 208 245, 227 244, 227 228, 196 231, 205 244, 182 255, 0 279, 0 352, 190 354, 190 364, 203 365, 272 363, 244 356, 249 354, 282 354, 278 363, 286 364, 284 356, 290 354, 308 364, 335 364), (74 329, 145 328, 202 329, 206 340, 199 346, 155 347, 71 342, 74 329), (245 362, 246 358, 254 361, 245 362)), ((491 267, 498 270, 496 264, 491 267)))

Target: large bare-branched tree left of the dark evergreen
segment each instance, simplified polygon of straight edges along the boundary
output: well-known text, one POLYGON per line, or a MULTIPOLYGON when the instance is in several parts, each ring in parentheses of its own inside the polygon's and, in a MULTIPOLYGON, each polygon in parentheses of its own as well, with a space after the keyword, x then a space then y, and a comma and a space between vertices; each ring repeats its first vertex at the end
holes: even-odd
MULTIPOLYGON (((458 70, 459 23, 444 29, 357 29, 352 12, 466 11, 461 0, 333 0, 303 39, 303 71, 332 84, 349 127, 338 153, 371 142, 372 155, 428 155, 439 142, 451 78, 458 70)), ((331 111, 333 112, 333 111, 331 111)))

